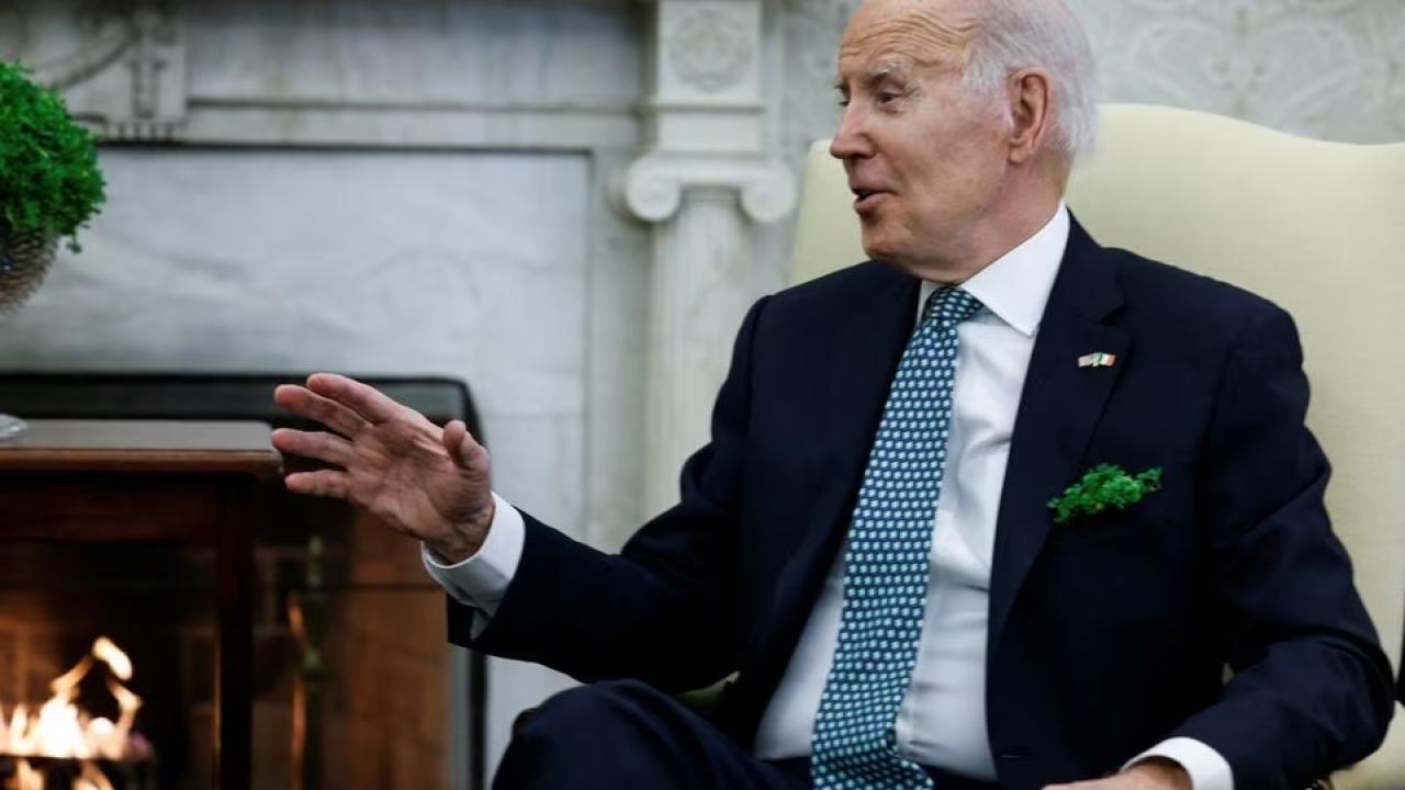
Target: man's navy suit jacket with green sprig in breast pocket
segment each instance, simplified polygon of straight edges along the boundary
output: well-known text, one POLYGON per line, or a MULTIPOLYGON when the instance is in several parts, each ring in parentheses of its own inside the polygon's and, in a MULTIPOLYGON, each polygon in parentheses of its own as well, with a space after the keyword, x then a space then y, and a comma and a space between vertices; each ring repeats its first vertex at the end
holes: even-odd
MULTIPOLYGON (((454 641, 666 690, 732 672, 743 745, 840 547, 919 281, 870 261, 757 302, 681 502, 618 555, 525 516, 488 628, 454 641)), ((1301 790, 1381 741, 1392 678, 1322 506, 1291 319, 1096 245, 1075 222, 1014 422, 991 578, 986 718, 1000 784, 1117 770, 1187 735, 1239 790, 1301 790), (1113 367, 1080 368, 1093 351, 1113 367), (1099 462, 1162 467, 1134 507, 1054 524, 1099 462), (1224 666, 1235 671, 1224 683, 1224 666)))

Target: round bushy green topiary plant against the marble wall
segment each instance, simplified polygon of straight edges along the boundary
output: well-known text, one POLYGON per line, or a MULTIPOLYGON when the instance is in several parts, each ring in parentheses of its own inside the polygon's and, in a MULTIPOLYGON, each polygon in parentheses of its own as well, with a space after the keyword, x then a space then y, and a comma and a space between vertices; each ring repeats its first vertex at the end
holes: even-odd
POLYGON ((79 252, 77 229, 105 198, 93 142, 58 91, 0 62, 0 235, 67 238, 79 252))

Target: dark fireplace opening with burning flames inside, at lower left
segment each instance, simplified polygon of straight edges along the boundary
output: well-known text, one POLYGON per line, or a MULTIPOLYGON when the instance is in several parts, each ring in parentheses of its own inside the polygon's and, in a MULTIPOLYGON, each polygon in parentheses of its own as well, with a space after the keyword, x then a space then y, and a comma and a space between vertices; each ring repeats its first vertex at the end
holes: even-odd
MULTIPOLYGON (((140 699, 131 742, 121 759, 104 762, 114 789, 185 789, 214 786, 215 633, 212 551, 188 545, 121 543, 0 543, 0 717, 15 735, 17 706, 25 706, 28 727, 49 724, 46 753, 13 753, 0 738, 0 775, 6 790, 18 784, 15 758, 44 768, 45 790, 73 784, 80 760, 62 749, 70 732, 62 715, 37 721, 55 696, 55 680, 90 663, 73 689, 72 704, 89 720, 121 718, 110 683, 140 699), (129 679, 114 676, 91 658, 96 640, 105 638, 131 662, 129 679), (59 738, 65 738, 59 741, 59 738), (55 745, 60 753, 55 753, 55 745)), ((281 654, 291 648, 270 645, 281 654)), ((257 669, 256 669, 257 675, 257 669)), ((264 673, 266 680, 267 672, 264 673)), ((256 683, 259 678, 256 678, 256 683)), ((27 789, 24 789, 27 790, 27 789)))

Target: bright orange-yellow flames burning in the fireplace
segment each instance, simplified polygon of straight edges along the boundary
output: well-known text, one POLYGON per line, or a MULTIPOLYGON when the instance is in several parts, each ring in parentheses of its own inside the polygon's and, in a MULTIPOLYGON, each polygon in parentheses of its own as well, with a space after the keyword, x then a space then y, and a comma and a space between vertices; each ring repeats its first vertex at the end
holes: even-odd
POLYGON ((25 758, 79 760, 81 775, 73 790, 112 790, 94 760, 119 760, 128 749, 128 735, 142 699, 122 680, 132 679, 132 662, 107 637, 98 637, 83 661, 49 683, 53 696, 38 711, 17 704, 6 720, 0 707, 0 755, 18 758, 15 790, 44 790, 44 775, 25 758), (74 704, 83 678, 103 663, 108 669, 107 689, 117 699, 118 717, 93 718, 74 704))

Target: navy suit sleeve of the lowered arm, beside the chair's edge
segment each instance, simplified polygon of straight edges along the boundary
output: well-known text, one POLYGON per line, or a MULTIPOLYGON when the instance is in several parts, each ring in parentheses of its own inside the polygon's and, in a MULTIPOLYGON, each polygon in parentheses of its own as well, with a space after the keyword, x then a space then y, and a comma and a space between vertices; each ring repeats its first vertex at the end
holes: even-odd
POLYGON ((1301 790, 1374 751, 1391 669, 1322 496, 1291 318, 1250 322, 1225 364, 1200 470, 1220 634, 1234 679, 1175 735, 1225 756, 1236 787, 1301 790))

